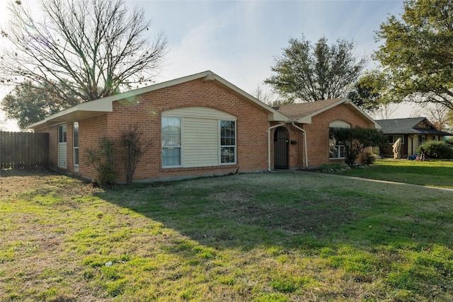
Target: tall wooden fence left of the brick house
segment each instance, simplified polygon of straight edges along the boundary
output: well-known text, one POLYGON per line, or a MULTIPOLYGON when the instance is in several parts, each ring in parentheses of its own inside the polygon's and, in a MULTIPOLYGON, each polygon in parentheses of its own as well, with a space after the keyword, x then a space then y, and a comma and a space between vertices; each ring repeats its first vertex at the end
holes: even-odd
POLYGON ((0 168, 48 168, 49 134, 0 131, 0 168))

